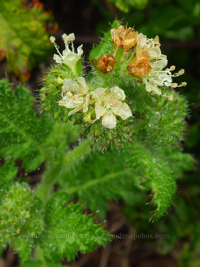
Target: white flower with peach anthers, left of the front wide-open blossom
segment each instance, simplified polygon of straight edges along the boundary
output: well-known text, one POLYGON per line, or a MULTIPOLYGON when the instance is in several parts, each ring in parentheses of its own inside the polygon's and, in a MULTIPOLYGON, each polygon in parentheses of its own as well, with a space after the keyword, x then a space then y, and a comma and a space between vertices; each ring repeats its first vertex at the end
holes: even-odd
POLYGON ((87 112, 89 97, 89 87, 87 86, 85 79, 79 77, 78 83, 70 78, 65 78, 62 86, 62 100, 58 102, 59 106, 64 106, 68 109, 74 108, 68 114, 71 114, 83 109, 83 112, 87 112), (65 96, 63 96, 65 93, 65 96))

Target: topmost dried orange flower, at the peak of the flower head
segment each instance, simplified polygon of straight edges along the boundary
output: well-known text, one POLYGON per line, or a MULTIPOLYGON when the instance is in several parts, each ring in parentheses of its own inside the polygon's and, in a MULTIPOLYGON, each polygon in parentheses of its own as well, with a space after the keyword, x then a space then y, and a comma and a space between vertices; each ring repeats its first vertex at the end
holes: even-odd
POLYGON ((124 53, 137 42, 135 29, 131 27, 124 28, 124 26, 121 25, 117 30, 115 28, 111 29, 111 38, 114 40, 116 48, 122 47, 124 49, 124 53))

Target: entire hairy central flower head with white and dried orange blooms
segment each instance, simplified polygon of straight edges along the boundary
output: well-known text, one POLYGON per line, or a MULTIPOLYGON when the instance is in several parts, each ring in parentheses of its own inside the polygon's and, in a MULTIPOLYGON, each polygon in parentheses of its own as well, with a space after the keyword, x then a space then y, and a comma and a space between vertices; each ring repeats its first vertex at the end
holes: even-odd
MULTIPOLYGON (((144 97, 142 90, 145 89, 154 102, 159 101, 159 96, 172 101, 173 90, 166 93, 167 88, 187 84, 172 81, 184 70, 172 74, 175 66, 166 68, 167 56, 161 54, 158 36, 148 39, 134 28, 121 25, 113 27, 106 36, 109 34, 111 38, 91 51, 93 68, 87 77, 82 66, 82 45, 76 52, 74 34, 62 35, 65 43, 62 54, 55 37, 51 36, 58 54, 54 54, 56 64, 43 79, 40 100, 44 111, 52 114, 54 120, 72 120, 73 125, 82 125, 78 140, 81 136, 90 136, 91 147, 98 144, 102 151, 113 143, 117 148, 124 147, 133 137, 138 128, 137 119, 145 117, 141 110, 148 96, 144 97), (136 91, 135 85, 140 90, 136 91), (158 95, 156 99, 154 94, 158 95), (141 107, 139 103, 143 103, 141 107)), ((142 125, 145 121, 141 123, 141 133, 144 132, 142 125)))

